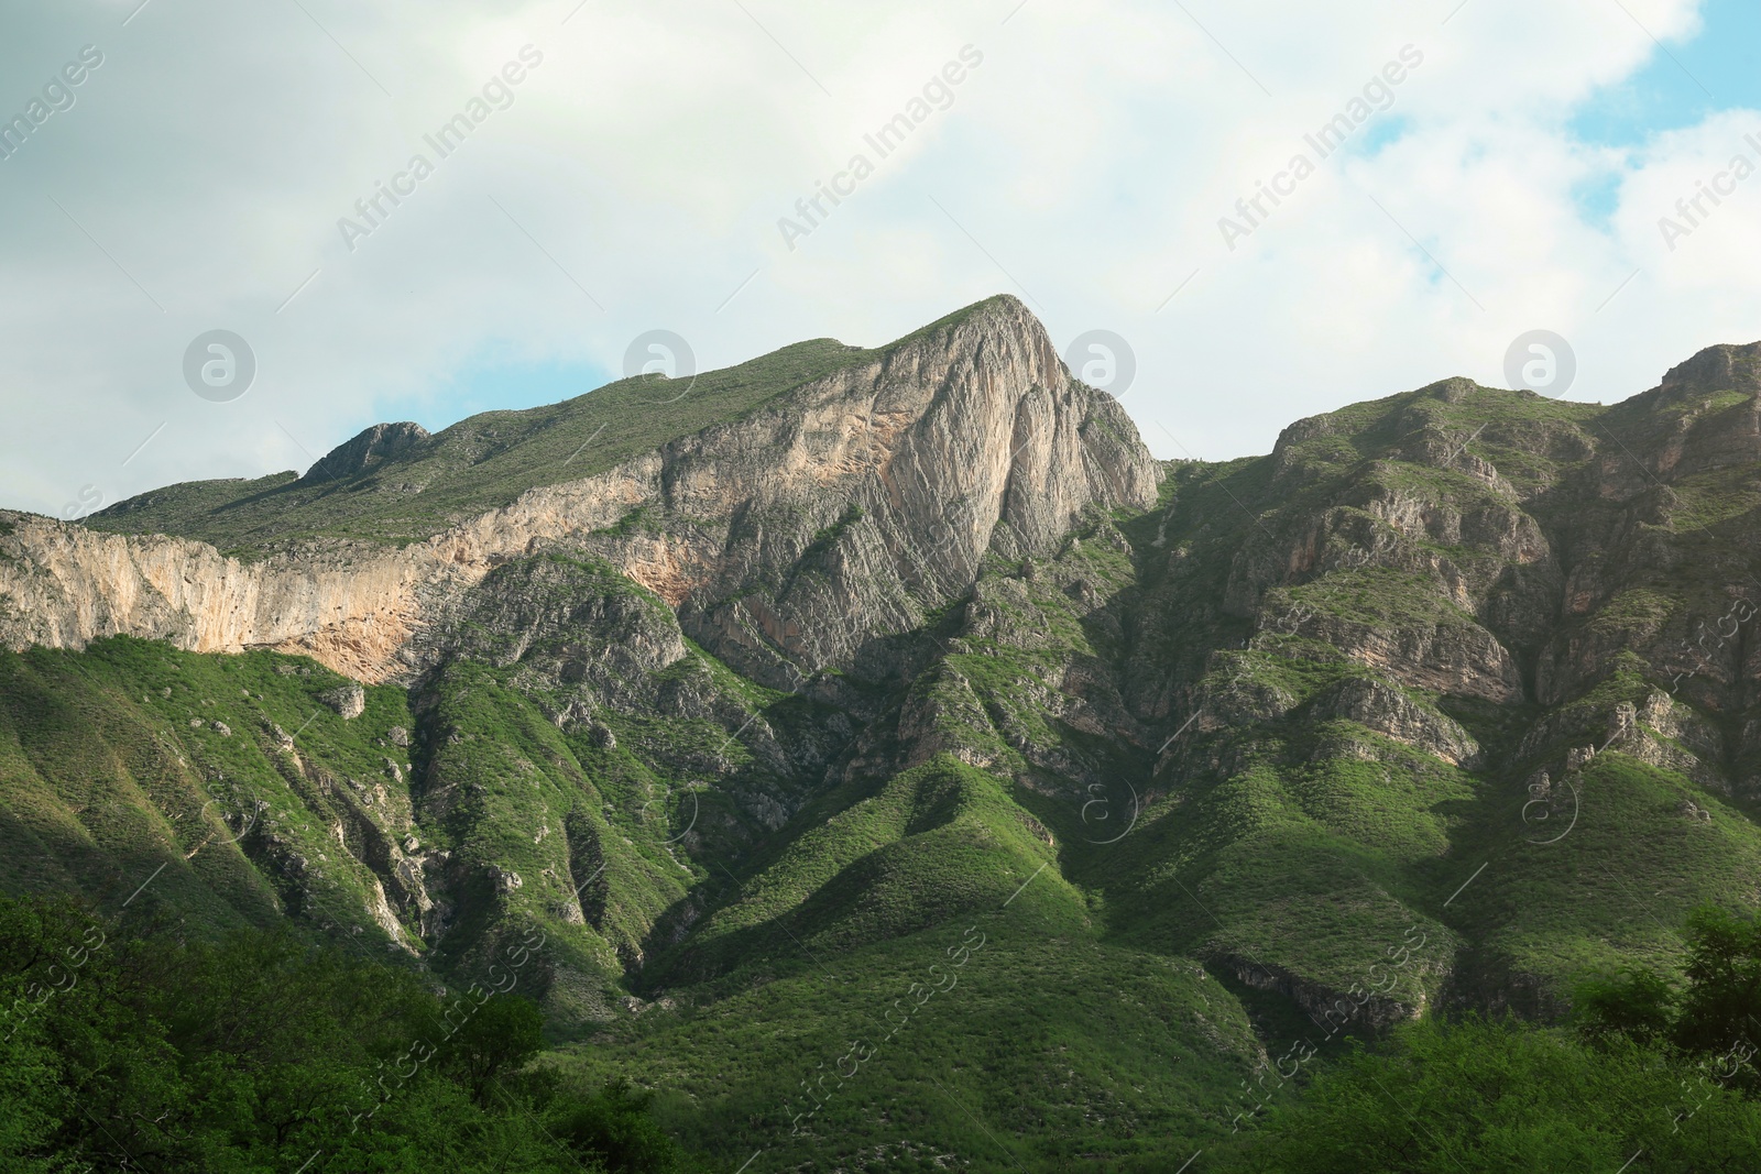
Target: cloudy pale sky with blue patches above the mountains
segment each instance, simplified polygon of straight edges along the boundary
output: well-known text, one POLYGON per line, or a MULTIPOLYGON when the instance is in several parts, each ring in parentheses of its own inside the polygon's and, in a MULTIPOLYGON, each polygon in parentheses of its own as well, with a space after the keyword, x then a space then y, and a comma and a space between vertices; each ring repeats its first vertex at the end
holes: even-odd
POLYGON ((1757 55, 1752 0, 0 0, 0 505, 998 292, 1160 458, 1611 403, 1761 338, 1757 55))

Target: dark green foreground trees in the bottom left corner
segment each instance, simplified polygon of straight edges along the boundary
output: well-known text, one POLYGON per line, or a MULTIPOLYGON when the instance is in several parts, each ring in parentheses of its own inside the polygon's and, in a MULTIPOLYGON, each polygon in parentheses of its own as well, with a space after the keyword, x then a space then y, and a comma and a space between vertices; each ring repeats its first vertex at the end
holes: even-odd
POLYGON ((5 1170, 692 1169, 622 1086, 519 1070, 530 1003, 285 931, 188 943, 0 898, 0 996, 5 1170))

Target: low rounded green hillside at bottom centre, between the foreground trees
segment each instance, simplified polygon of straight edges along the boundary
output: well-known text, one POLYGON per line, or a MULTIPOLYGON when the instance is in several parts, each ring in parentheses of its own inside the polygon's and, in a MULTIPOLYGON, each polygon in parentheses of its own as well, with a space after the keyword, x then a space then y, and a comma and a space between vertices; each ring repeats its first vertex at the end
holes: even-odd
POLYGON ((556 1063, 657 1086, 727 1169, 759 1149, 768 1170, 1173 1169, 1227 1132, 1247 1017, 1196 963, 1076 929, 1060 887, 1048 869, 1007 906, 835 956, 777 938, 726 996, 682 993, 556 1063))

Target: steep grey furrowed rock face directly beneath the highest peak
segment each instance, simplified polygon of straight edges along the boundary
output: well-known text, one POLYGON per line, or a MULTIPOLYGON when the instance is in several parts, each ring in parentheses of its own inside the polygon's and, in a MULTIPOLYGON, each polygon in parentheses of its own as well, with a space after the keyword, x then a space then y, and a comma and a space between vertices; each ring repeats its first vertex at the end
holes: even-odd
POLYGON ((988 549, 1046 553, 1087 509, 1146 505, 1160 477, 1118 405, 1069 380, 1013 299, 664 459, 664 512, 590 549, 777 685, 916 627, 988 549))

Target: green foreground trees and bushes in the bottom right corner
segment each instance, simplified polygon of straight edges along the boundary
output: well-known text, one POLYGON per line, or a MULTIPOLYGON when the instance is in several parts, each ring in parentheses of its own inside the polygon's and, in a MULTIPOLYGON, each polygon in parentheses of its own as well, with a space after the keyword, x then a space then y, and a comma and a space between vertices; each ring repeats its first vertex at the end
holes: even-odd
POLYGON ((1687 919, 1685 989, 1632 970, 1576 989, 1576 1031, 1469 1016, 1402 1026, 1312 1074, 1224 1170, 1750 1169, 1761 919, 1687 919), (1735 1042, 1733 1042, 1735 1037, 1735 1042), (1708 1056, 1717 1054, 1717 1061, 1708 1056))

